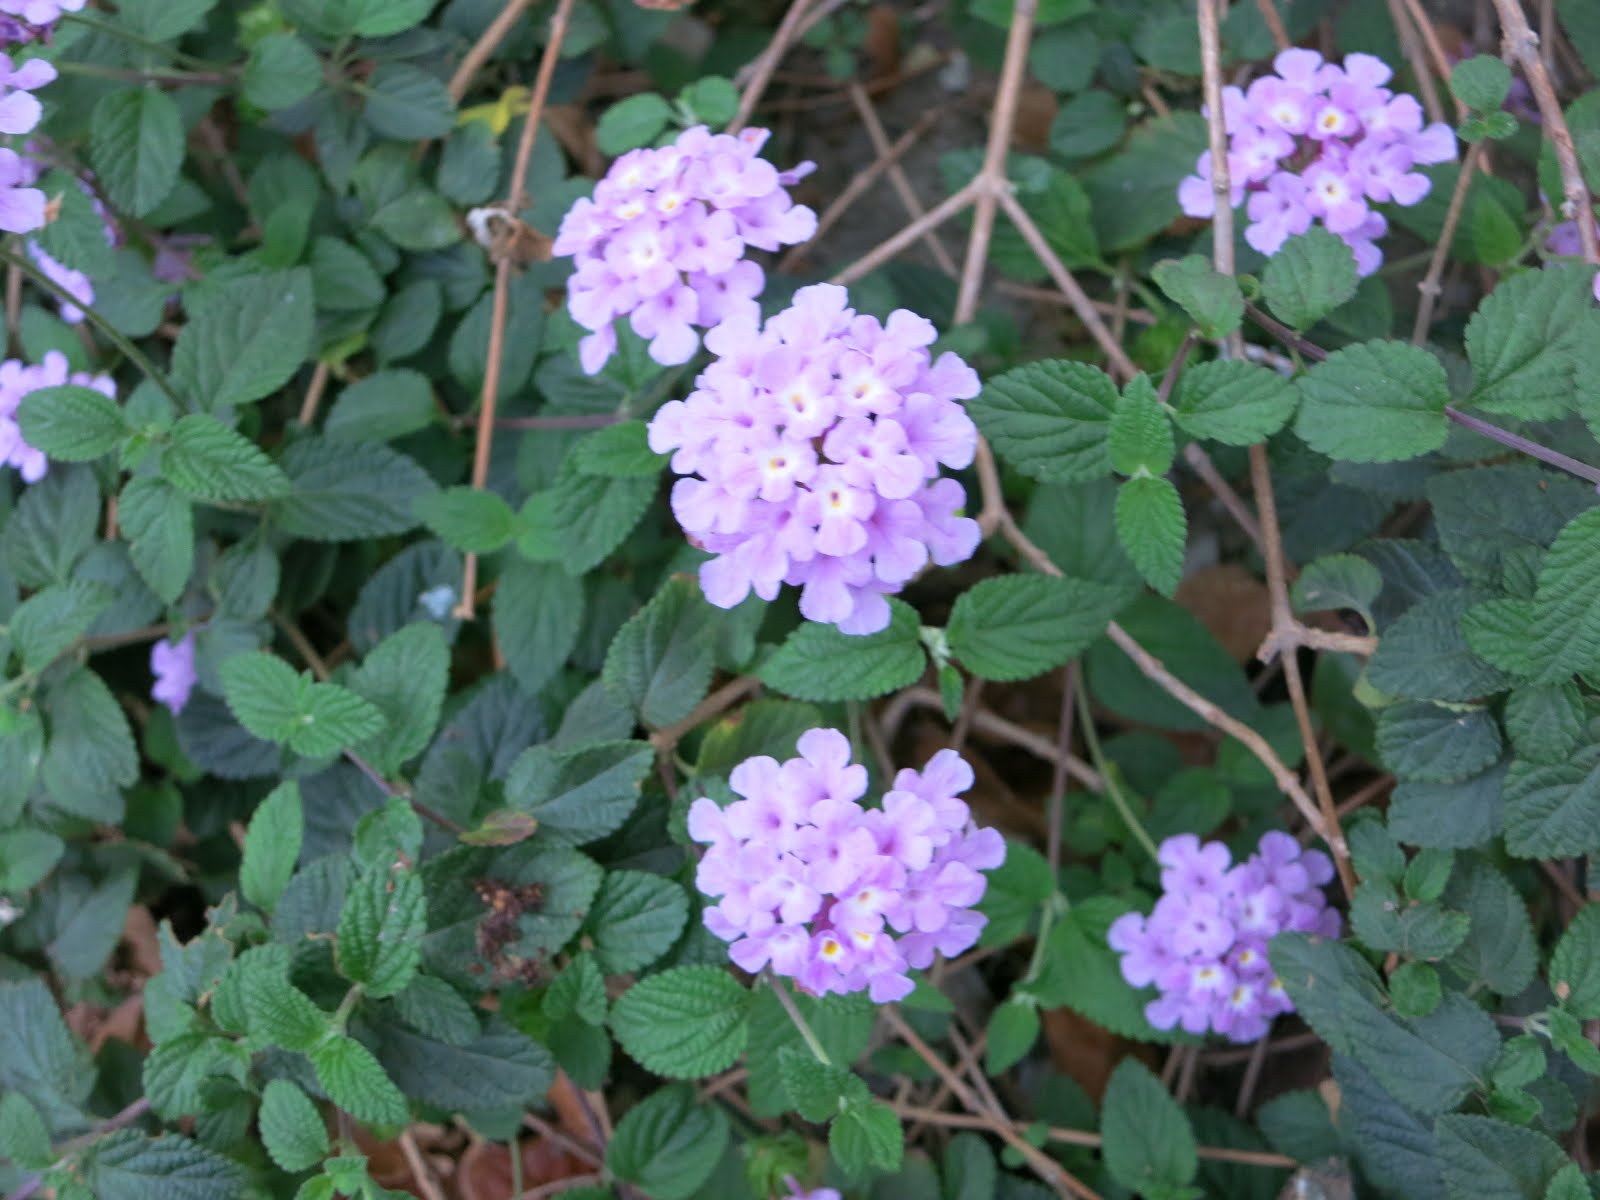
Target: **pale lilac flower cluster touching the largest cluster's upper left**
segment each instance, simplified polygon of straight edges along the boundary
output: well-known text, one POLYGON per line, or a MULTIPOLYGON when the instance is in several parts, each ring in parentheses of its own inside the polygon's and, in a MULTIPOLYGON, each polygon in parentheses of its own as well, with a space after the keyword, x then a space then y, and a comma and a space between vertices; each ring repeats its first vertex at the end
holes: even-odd
POLYGON ((650 339, 664 366, 686 363, 699 328, 757 315, 766 282, 747 246, 778 250, 816 232, 816 213, 789 198, 813 170, 758 158, 766 130, 685 130, 672 146, 630 150, 562 219, 554 253, 573 256, 566 307, 589 330, 579 344, 594 374, 616 350, 618 317, 650 339))

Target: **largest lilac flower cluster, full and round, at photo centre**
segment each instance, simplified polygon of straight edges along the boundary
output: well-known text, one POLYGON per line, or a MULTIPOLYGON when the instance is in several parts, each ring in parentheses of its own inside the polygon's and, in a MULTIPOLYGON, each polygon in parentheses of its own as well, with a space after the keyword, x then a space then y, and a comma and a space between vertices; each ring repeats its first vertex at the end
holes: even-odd
POLYGON ((715 558, 701 566, 714 605, 797 584, 800 611, 846 634, 890 621, 885 595, 930 558, 971 557, 978 523, 957 512, 978 429, 962 400, 978 374, 933 360, 930 322, 906 309, 858 317, 843 288, 818 283, 762 328, 739 314, 706 336, 717 355, 686 400, 661 406, 650 446, 675 451, 672 512, 715 558))

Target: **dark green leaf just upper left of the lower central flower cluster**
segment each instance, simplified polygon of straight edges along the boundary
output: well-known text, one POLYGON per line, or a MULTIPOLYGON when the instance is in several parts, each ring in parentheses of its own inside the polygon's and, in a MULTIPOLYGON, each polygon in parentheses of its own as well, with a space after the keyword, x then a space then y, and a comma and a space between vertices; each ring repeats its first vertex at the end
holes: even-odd
POLYGON ((506 803, 531 813, 546 842, 594 842, 627 821, 653 758, 646 742, 632 741, 565 752, 534 746, 506 776, 506 803))

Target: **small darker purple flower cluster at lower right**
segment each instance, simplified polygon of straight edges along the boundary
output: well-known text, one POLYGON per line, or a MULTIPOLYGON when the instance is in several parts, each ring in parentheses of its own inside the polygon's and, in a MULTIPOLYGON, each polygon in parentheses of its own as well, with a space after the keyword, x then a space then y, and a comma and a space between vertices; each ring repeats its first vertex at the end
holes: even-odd
POLYGON ((1166 838, 1158 861, 1155 910, 1125 914, 1107 933, 1123 978, 1160 989, 1144 1010, 1157 1029, 1214 1029, 1254 1042, 1272 1018, 1294 1011, 1267 962, 1267 942, 1285 930, 1339 934, 1339 914, 1322 894, 1333 862, 1280 832, 1264 834, 1259 850, 1232 867, 1227 846, 1202 845, 1194 834, 1166 838))

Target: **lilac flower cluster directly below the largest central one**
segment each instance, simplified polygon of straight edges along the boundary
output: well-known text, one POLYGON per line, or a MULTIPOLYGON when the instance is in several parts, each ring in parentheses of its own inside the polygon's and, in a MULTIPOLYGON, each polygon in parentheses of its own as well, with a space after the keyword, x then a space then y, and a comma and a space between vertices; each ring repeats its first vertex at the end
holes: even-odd
POLYGON ((710 845, 694 883, 718 898, 706 928, 746 971, 771 965, 813 995, 899 1000, 910 968, 978 941, 987 918, 971 906, 1005 840, 957 798, 973 768, 954 750, 896 774, 882 808, 858 803, 867 768, 850 762, 845 734, 811 730, 798 750, 739 763, 728 782, 742 800, 690 808, 690 837, 710 845))

